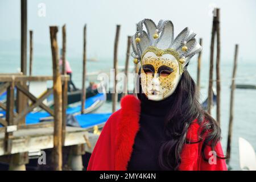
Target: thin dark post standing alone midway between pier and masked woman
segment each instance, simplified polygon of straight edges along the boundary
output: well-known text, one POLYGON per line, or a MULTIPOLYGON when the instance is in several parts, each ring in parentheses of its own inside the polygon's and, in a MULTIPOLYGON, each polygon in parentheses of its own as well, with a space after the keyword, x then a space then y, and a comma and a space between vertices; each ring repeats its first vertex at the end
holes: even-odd
POLYGON ((82 56, 82 107, 81 113, 84 114, 85 111, 85 100, 86 100, 86 24, 84 26, 84 48, 82 56))

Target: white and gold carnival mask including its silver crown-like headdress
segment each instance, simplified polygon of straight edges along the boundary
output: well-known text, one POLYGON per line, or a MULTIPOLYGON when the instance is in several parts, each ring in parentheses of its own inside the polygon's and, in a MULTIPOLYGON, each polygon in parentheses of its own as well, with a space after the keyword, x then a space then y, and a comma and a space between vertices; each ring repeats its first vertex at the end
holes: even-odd
POLYGON ((159 101, 174 93, 185 65, 201 51, 195 36, 187 27, 174 40, 170 20, 160 20, 157 27, 150 19, 138 23, 138 31, 132 38, 132 56, 135 64, 141 62, 142 92, 148 99, 159 101))

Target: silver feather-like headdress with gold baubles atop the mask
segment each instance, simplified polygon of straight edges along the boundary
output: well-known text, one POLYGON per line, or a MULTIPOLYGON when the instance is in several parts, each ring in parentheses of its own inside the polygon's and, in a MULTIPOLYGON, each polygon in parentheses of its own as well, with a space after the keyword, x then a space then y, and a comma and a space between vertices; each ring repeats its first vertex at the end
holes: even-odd
POLYGON ((134 57, 135 64, 139 63, 148 49, 154 49, 159 55, 163 52, 172 52, 183 69, 202 49, 196 42, 195 32, 188 27, 174 39, 174 24, 171 20, 160 20, 156 26, 151 19, 143 19, 137 24, 137 30, 131 39, 131 56, 134 57), (144 27, 146 30, 143 30, 144 27))

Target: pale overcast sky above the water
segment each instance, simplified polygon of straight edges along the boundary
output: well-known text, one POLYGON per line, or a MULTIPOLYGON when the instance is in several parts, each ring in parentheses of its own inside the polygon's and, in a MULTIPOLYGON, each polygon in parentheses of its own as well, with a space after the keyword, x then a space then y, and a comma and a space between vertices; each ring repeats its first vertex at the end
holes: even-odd
MULTIPOLYGON (((125 56, 127 35, 135 32, 135 23, 144 18, 170 19, 174 23, 175 36, 185 27, 203 38, 203 57, 209 59, 210 33, 213 6, 220 7, 221 15, 221 57, 233 59, 234 44, 240 44, 240 56, 254 60, 256 1, 38 1, 28 0, 28 30, 34 31, 35 55, 51 55, 49 26, 59 26, 58 42, 61 44, 61 26, 67 25, 68 56, 81 56, 82 29, 88 27, 88 54, 104 58, 113 57, 116 24, 121 24, 118 55, 125 56), (46 16, 40 16, 39 5, 46 6, 46 16)), ((19 53, 20 46, 20 1, 0 0, 0 41, 2 50, 19 53), (3 46, 3 44, 8 46, 3 46), (14 49, 15 48, 15 49, 14 49), (7 50, 6 50, 7 49, 7 50)), ((1 50, 0 50, 1 52, 1 50)))

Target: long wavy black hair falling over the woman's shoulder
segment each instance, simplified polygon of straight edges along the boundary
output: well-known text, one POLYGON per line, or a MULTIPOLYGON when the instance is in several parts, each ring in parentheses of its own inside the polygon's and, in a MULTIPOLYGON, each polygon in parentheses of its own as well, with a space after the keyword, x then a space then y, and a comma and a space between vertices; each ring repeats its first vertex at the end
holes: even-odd
MULTIPOLYGON (((174 101, 170 104, 169 112, 165 121, 166 141, 162 143, 159 151, 159 164, 164 170, 178 170, 181 163, 181 151, 185 143, 197 143, 203 140, 202 155, 204 160, 205 146, 210 144, 212 150, 217 142, 221 139, 221 129, 208 113, 204 111, 198 101, 198 93, 195 81, 189 75, 187 70, 184 70, 183 75, 172 94, 174 101), (186 134, 188 127, 194 119, 198 119, 201 128, 199 139, 197 141, 187 141, 186 134), (207 121, 207 122, 203 122, 207 121), (210 131, 205 134, 206 131, 210 131)), ((218 158, 226 159, 226 157, 218 156, 218 158)))

